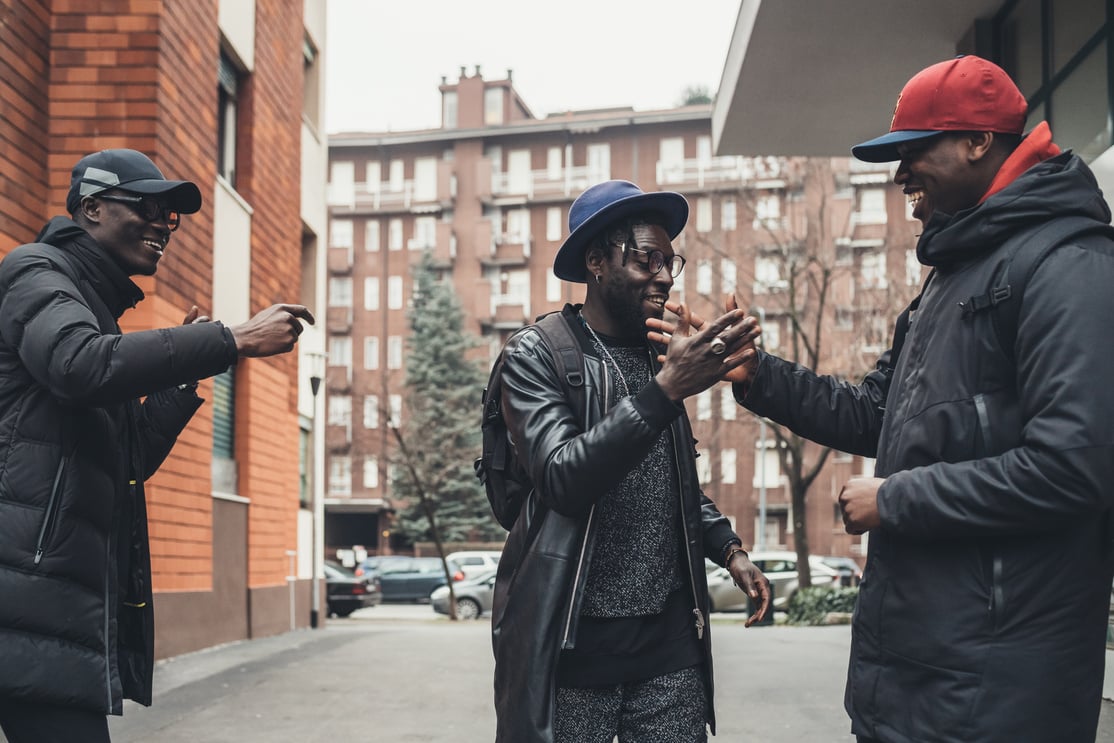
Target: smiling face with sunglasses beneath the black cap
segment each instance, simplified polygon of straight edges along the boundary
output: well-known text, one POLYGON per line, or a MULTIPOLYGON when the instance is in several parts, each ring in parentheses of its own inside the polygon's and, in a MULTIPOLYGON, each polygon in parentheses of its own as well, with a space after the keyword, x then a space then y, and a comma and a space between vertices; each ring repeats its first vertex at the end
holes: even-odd
POLYGON ((85 197, 79 212, 84 222, 81 226, 127 275, 155 274, 163 251, 170 242, 170 227, 165 213, 154 222, 147 222, 127 203, 97 196, 85 197))

